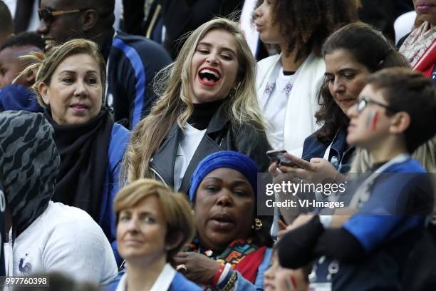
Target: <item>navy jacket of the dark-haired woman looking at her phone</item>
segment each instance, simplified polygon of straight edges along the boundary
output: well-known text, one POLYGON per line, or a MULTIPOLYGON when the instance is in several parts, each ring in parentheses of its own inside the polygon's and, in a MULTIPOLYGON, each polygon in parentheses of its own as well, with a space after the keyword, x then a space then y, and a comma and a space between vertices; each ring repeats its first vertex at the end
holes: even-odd
MULTIPOLYGON (((311 158, 323 158, 324 153, 330 143, 321 143, 316 138, 316 133, 312 133, 304 140, 303 154, 301 158, 303 160, 311 160, 311 158)), ((350 170, 351 161, 353 160, 354 147, 348 146, 347 141, 347 129, 343 128, 338 131, 333 143, 331 145, 330 154, 328 155, 328 161, 341 173, 348 173, 350 170)))

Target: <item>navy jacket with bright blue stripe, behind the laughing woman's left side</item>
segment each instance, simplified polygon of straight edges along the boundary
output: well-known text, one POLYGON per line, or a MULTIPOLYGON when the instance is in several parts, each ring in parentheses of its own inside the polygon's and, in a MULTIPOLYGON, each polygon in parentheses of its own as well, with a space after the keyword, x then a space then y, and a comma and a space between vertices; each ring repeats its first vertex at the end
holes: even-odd
POLYGON ((113 107, 115 121, 133 128, 146 116, 156 95, 152 91, 155 73, 171 63, 162 46, 145 39, 118 32, 112 43, 103 47, 108 64, 108 104, 113 107))

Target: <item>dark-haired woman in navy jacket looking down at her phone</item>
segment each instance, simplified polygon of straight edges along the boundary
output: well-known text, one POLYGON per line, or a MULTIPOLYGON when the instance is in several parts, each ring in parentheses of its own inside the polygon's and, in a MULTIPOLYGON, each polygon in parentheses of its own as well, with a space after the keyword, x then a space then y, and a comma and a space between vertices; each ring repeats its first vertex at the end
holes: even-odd
MULTIPOLYGON (((328 37, 322 54, 326 73, 316 112, 316 121, 322 127, 304 141, 302 158, 285 153, 298 168, 279 165, 282 172, 294 173, 313 183, 326 177, 339 179, 338 173, 350 170, 354 148, 346 142, 349 122, 346 111, 357 102, 370 73, 382 68, 408 67, 407 60, 380 31, 360 22, 348 24, 328 37)), ((276 168, 273 163, 270 171, 275 172, 276 168)))

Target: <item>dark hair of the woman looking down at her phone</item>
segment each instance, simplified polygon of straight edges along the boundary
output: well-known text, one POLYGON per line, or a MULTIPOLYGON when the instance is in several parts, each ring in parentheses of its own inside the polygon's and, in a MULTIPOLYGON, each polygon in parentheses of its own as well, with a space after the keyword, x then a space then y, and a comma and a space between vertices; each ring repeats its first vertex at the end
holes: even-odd
MULTIPOLYGON (((351 53, 355 61, 368 68, 370 73, 382 68, 409 67, 408 61, 381 31, 362 22, 348 24, 329 36, 323 45, 322 54, 325 57, 340 49, 351 53)), ((326 78, 318 92, 318 104, 320 109, 315 114, 316 122, 323 126, 316 132, 316 138, 322 143, 331 143, 336 131, 348 126, 348 117, 331 96, 326 78)))

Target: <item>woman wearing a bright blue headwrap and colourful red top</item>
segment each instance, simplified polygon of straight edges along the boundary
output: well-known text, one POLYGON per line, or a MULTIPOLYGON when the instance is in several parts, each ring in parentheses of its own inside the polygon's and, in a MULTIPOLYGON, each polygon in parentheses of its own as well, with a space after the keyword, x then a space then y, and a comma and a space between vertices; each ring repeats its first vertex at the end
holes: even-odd
POLYGON ((197 239, 175 262, 206 290, 263 288, 272 239, 256 218, 257 173, 249 157, 224 150, 207 155, 192 175, 189 194, 197 239))

